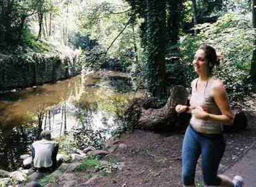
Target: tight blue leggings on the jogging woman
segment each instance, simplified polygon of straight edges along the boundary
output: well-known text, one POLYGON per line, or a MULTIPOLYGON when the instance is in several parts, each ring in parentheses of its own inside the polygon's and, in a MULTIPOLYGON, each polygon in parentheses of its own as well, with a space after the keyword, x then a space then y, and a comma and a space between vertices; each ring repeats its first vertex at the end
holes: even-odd
POLYGON ((194 185, 195 167, 202 154, 203 181, 208 186, 220 186, 217 176, 218 167, 223 156, 226 143, 223 135, 205 135, 187 127, 182 145, 182 181, 184 185, 194 185))

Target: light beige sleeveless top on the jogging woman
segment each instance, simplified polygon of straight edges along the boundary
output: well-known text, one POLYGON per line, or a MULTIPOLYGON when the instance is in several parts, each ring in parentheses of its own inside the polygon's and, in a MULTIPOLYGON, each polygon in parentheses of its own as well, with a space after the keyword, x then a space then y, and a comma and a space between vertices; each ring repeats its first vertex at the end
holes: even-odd
MULTIPOLYGON (((213 90, 213 77, 208 79, 204 89, 197 90, 197 82, 198 78, 192 82, 192 94, 190 97, 190 106, 202 106, 203 108, 208 109, 209 114, 221 114, 220 109, 215 103, 214 98, 212 97, 211 93, 213 90)), ((195 130, 201 133, 208 133, 208 134, 216 134, 223 132, 223 125, 217 122, 213 122, 210 120, 203 120, 196 118, 193 114, 190 119, 190 125, 194 127, 195 130)))

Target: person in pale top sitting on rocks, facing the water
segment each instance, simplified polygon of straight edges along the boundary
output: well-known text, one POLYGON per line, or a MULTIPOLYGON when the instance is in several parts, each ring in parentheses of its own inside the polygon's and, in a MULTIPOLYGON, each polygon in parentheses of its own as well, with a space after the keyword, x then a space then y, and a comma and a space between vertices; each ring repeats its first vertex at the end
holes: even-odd
POLYGON ((32 144, 32 167, 39 172, 52 172, 57 167, 59 145, 51 141, 50 130, 43 130, 40 137, 32 144))

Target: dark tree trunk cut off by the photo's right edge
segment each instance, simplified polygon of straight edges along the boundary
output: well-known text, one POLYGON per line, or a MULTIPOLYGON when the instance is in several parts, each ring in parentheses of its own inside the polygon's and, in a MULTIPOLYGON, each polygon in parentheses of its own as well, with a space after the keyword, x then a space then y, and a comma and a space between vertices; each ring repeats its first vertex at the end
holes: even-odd
MULTIPOLYGON (((252 26, 254 28, 254 33, 256 33, 256 0, 252 0, 252 26)), ((256 36, 254 36, 254 49, 252 52, 250 76, 252 78, 252 81, 256 83, 256 36)))

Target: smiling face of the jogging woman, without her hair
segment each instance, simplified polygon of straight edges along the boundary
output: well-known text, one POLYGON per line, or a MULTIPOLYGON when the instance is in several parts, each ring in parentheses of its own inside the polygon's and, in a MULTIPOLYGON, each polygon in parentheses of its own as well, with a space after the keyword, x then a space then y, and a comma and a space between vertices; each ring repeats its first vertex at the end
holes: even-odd
POLYGON ((208 74, 209 66, 207 60, 205 59, 205 51, 203 49, 198 49, 197 52, 195 52, 193 66, 195 73, 208 74))

